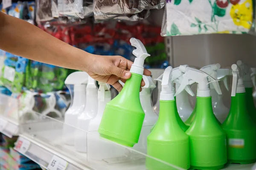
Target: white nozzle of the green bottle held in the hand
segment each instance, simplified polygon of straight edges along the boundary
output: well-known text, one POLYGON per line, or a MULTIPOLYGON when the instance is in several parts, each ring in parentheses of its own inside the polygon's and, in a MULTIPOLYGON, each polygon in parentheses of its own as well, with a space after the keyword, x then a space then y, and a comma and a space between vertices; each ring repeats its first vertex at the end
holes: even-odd
POLYGON ((145 46, 143 45, 143 43, 136 39, 136 38, 131 38, 130 39, 131 45, 136 47, 136 49, 134 51, 132 51, 132 54, 134 54, 135 57, 137 57, 134 60, 133 65, 131 66, 131 73, 136 73, 136 74, 140 74, 143 75, 144 72, 144 60, 150 56, 145 48, 145 46))

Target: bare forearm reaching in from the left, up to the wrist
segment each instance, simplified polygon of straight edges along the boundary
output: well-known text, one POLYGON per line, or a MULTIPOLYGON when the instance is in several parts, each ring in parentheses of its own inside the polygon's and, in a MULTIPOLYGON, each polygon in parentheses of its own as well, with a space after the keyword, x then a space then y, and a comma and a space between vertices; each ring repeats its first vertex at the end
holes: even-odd
POLYGON ((74 48, 40 28, 2 12, 0 49, 35 61, 83 71, 88 69, 93 60, 92 54, 74 48))

